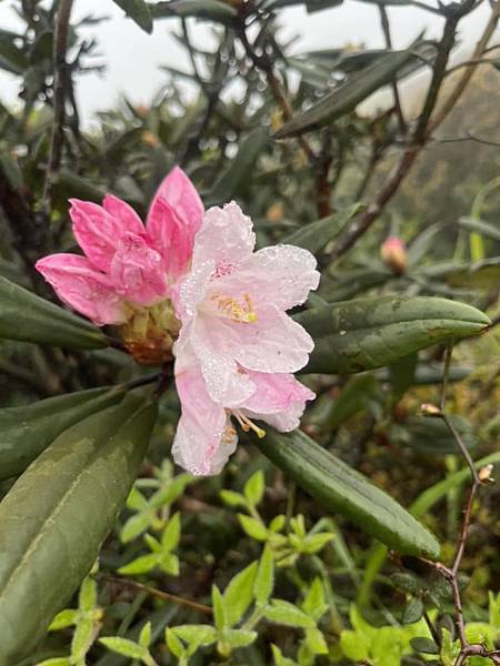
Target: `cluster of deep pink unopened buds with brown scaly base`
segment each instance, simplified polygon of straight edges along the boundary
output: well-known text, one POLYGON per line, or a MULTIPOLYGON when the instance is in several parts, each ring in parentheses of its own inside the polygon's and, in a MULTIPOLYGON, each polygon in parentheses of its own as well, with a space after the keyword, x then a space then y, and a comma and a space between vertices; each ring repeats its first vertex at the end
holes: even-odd
POLYGON ((123 342, 139 362, 161 363, 171 357, 179 332, 172 286, 189 269, 203 211, 179 168, 159 186, 146 226, 111 194, 102 206, 72 199, 73 234, 86 256, 51 254, 37 269, 77 312, 98 325, 121 324, 123 342))

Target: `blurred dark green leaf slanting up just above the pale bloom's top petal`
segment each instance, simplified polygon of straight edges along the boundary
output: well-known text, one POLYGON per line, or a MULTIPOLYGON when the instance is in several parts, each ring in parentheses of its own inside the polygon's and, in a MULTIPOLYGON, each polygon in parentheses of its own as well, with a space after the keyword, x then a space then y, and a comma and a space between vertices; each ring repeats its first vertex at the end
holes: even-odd
POLYGON ((268 142, 268 132, 263 128, 256 128, 243 139, 237 155, 230 161, 228 168, 221 173, 211 192, 204 198, 206 205, 217 205, 229 201, 261 154, 268 142))

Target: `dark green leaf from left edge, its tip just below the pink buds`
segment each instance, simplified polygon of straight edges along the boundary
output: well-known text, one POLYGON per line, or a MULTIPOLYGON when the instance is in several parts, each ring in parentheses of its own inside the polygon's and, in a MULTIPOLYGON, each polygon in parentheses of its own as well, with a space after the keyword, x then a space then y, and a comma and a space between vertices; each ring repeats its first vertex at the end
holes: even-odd
POLYGON ((0 337, 78 350, 109 346, 90 322, 4 278, 0 278, 0 337))

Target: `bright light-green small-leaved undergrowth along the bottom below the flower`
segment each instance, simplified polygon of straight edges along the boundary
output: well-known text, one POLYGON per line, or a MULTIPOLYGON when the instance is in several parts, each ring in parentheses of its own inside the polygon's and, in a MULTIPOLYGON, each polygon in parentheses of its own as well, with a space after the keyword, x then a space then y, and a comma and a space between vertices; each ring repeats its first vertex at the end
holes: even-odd
MULTIPOLYGON (((173 551, 179 546, 181 519, 179 512, 171 513, 171 505, 191 482, 186 474, 173 476, 169 464, 154 468, 151 478, 137 482, 128 501, 133 513, 123 525, 122 541, 127 545, 140 545, 140 536, 147 529, 157 533, 159 538, 146 533, 143 539, 151 553, 119 567, 119 574, 178 574, 179 559, 173 551), (130 536, 131 528, 134 536, 130 536)), ((448 583, 439 577, 429 582, 411 573, 394 574, 392 583, 407 598, 399 622, 391 616, 390 625, 373 626, 360 608, 351 604, 350 628, 341 626, 338 632, 332 630, 334 622, 330 619, 334 618, 337 608, 321 551, 341 537, 334 533, 332 523, 330 532, 322 531, 323 525, 330 525, 328 521, 320 521, 307 531, 301 515, 289 521, 278 515, 268 525, 263 512, 259 511, 264 494, 262 471, 247 481, 241 493, 220 492, 227 505, 246 509, 247 513, 238 514, 240 526, 262 551, 260 557, 239 571, 223 589, 212 586, 211 605, 206 607, 211 612, 211 622, 177 626, 169 622, 164 629, 156 627, 152 632, 151 622, 146 618, 134 634, 114 635, 109 628, 112 623, 104 625, 106 604, 98 602, 96 566, 80 588, 78 608, 62 610, 50 626, 51 632, 73 627, 70 655, 46 659, 38 666, 84 666, 89 650, 99 647, 146 666, 156 666, 160 654, 170 654, 180 666, 188 666, 192 659, 199 663, 213 653, 228 659, 236 650, 248 648, 267 636, 272 625, 289 627, 296 637, 293 654, 290 654, 290 645, 283 646, 271 638, 269 647, 274 666, 313 666, 318 657, 328 657, 330 663, 399 666, 407 656, 421 664, 454 664, 460 643, 446 613, 448 583), (297 566, 304 563, 316 566, 320 575, 304 578, 297 566), (279 576, 292 583, 292 586, 287 585, 288 598, 280 598, 279 576), (436 627, 434 632, 428 623, 436 627), (100 636, 108 632, 110 635, 100 636)), ((483 622, 468 623, 466 634, 469 640, 493 648, 500 639, 500 595, 490 593, 488 617, 483 622)), ((481 665, 479 657, 471 660, 471 666, 481 665)))

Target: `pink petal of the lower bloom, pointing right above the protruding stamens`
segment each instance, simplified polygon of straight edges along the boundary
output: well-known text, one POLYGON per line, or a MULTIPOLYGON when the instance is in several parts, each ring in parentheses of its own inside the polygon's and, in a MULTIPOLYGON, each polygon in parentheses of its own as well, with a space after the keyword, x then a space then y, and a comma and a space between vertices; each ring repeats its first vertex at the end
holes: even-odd
POLYGON ((300 403, 303 410, 306 401, 316 397, 314 393, 297 381, 292 374, 250 370, 248 375, 256 391, 244 401, 242 407, 254 413, 277 414, 286 412, 296 403, 300 403))

